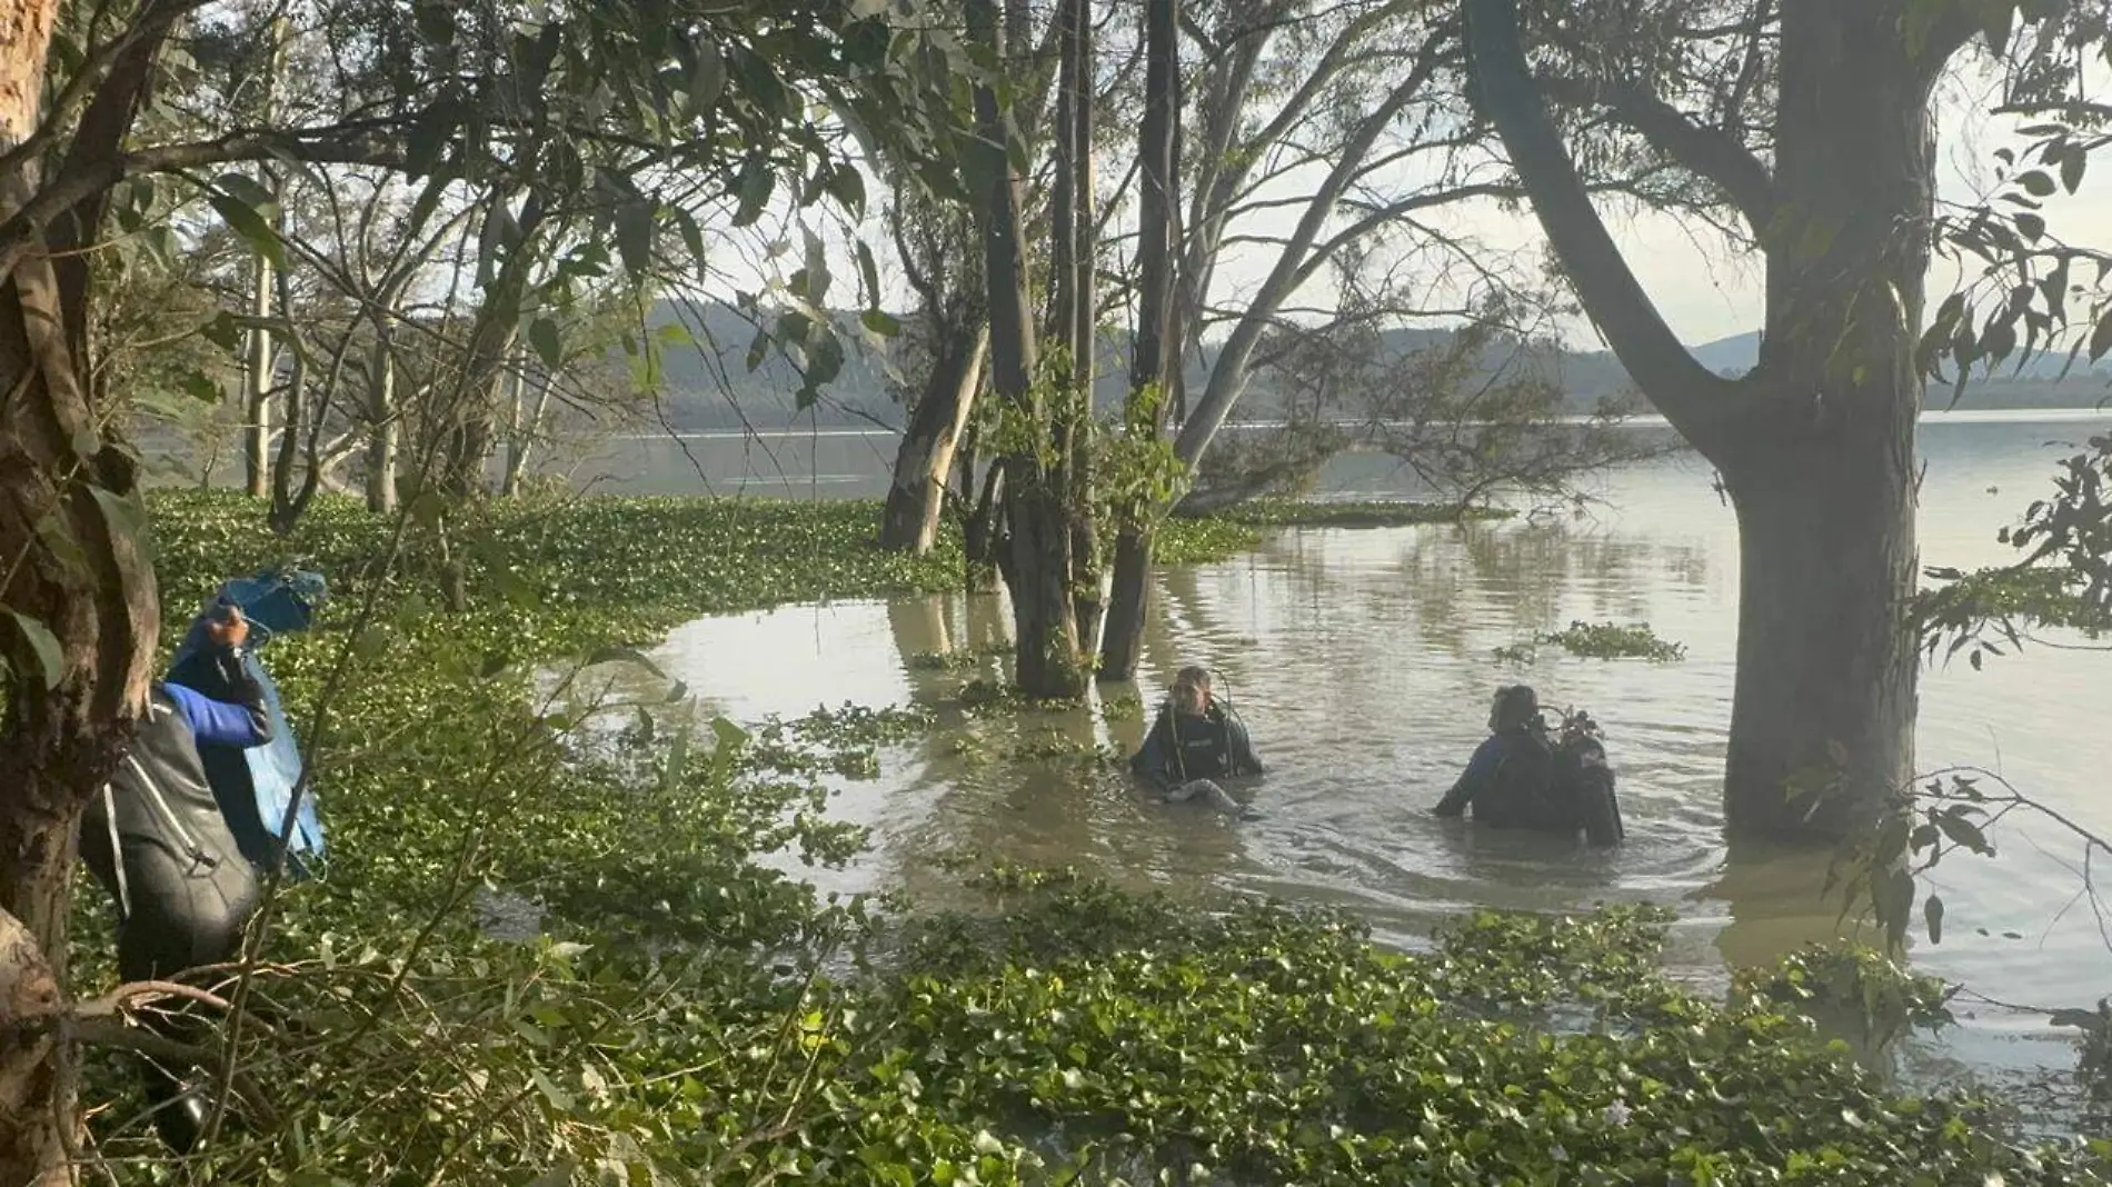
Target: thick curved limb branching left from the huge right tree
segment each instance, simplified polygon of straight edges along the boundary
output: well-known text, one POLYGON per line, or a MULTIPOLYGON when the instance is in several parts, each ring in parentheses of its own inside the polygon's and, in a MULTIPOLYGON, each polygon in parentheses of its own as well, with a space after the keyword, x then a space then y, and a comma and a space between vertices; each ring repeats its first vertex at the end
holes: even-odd
POLYGON ((1590 205, 1576 161, 1563 148, 1519 44, 1514 0, 1464 0, 1476 99, 1510 150, 1569 283, 1643 395, 1679 433, 1711 454, 1726 441, 1723 418, 1738 393, 1700 365, 1664 323, 1628 260, 1590 205))

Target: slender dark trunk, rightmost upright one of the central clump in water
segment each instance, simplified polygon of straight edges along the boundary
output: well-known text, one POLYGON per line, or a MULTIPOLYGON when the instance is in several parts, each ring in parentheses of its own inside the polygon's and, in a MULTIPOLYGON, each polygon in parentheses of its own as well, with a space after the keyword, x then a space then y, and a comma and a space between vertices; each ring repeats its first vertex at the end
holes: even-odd
MULTIPOLYGON (((1178 76, 1181 0, 1149 0, 1145 11, 1145 127, 1138 173, 1138 291, 1136 342, 1130 355, 1130 416, 1126 431, 1166 431, 1168 351, 1172 342, 1172 256, 1176 167, 1174 129, 1181 123, 1178 76)), ((1143 653, 1145 615, 1151 606, 1153 507, 1128 507, 1115 536, 1115 581, 1100 638, 1100 680, 1128 680, 1143 653)))

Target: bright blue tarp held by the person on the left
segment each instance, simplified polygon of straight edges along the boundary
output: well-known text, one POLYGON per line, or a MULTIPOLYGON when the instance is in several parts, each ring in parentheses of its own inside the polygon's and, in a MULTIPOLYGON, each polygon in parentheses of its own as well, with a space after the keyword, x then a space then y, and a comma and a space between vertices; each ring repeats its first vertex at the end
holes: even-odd
MULTIPOLYGON (((327 583, 319 572, 287 570, 237 577, 224 583, 192 619, 184 644, 169 665, 171 678, 186 659, 207 644, 205 623, 224 606, 241 606, 249 619, 249 651, 243 667, 264 689, 264 708, 270 716, 272 739, 266 746, 232 750, 220 746, 201 748, 205 773, 213 784, 213 798, 228 819, 234 843, 253 866, 266 868, 277 860, 279 834, 285 830, 285 813, 294 805, 294 788, 300 788, 300 741, 285 720, 279 701, 279 686, 270 672, 258 661, 272 636, 304 632, 315 617, 315 606, 327 596, 327 583)), ((211 693, 209 689, 203 689, 211 693)), ((287 836, 287 872, 306 877, 308 866, 323 858, 323 822, 315 811, 315 788, 300 794, 300 809, 294 813, 294 830, 287 836)))

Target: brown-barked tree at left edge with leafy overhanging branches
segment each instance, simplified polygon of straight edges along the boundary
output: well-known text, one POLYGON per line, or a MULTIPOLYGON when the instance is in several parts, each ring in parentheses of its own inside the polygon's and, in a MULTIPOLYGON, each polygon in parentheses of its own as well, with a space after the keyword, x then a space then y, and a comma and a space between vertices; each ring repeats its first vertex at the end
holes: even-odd
MULTIPOLYGON (((327 101, 182 139, 135 135, 142 112, 169 101, 163 49, 177 27, 239 40, 245 13, 203 0, 0 8, 0 1183, 70 1176, 78 1117, 57 1026, 74 832, 146 701, 158 642, 139 465, 106 435, 89 380, 89 258, 110 207, 142 186, 199 186, 243 239, 279 251, 253 182, 211 169, 357 163, 425 180, 422 201, 437 203, 454 184, 492 192, 532 144, 596 169, 591 201, 570 211, 591 230, 560 270, 644 272, 657 234, 701 256, 699 211, 724 203, 752 222, 779 177, 798 180, 800 205, 862 209, 843 120, 948 184, 955 116, 936 82, 961 63, 889 15, 834 0, 598 0, 522 25, 496 2, 416 4, 406 21, 399 4, 342 0, 296 13, 329 44, 327 101), (813 118, 815 101, 838 120, 813 118)), ((809 355, 834 342, 800 329, 809 355)))

